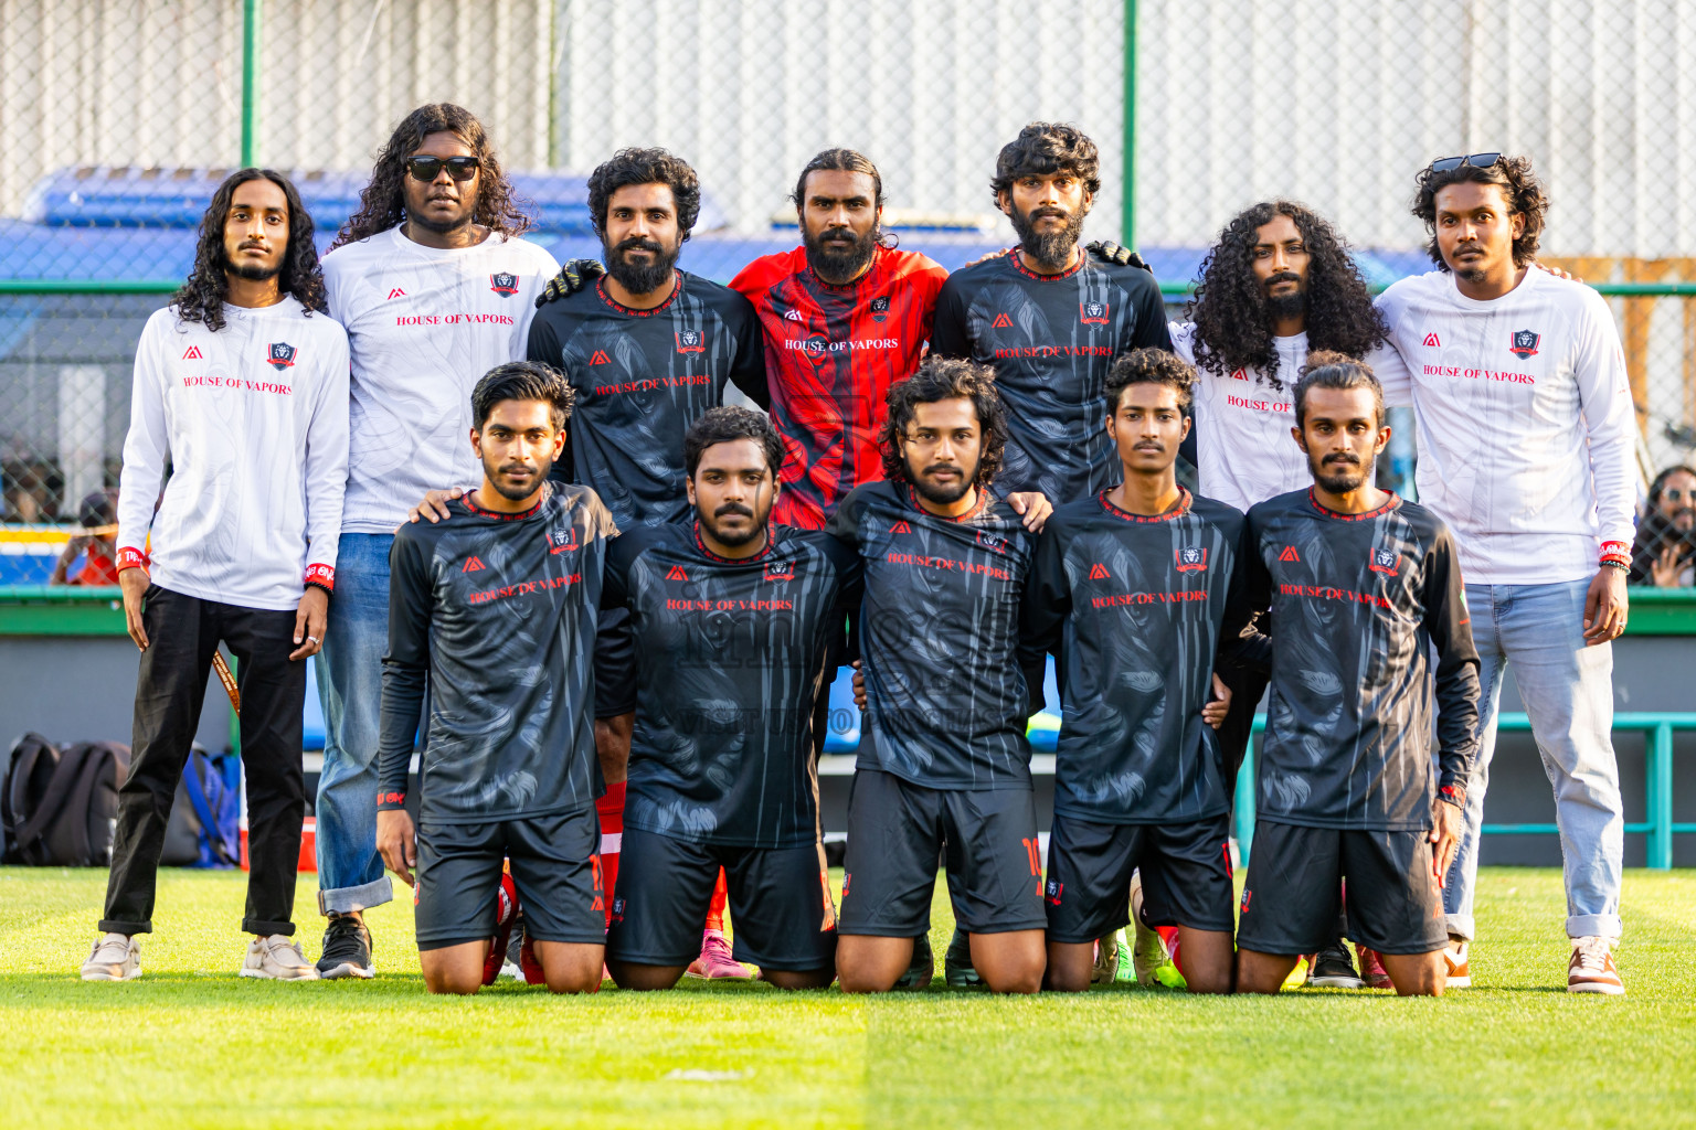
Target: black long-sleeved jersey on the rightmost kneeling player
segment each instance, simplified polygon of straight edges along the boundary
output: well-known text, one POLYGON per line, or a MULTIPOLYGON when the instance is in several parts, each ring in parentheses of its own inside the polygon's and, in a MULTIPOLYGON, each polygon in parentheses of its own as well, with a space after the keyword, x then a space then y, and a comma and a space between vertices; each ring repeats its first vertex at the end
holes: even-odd
POLYGON ((1258 817, 1428 828, 1433 778, 1464 805, 1479 657, 1448 527, 1394 495, 1336 513, 1309 488, 1248 512, 1247 556, 1250 603, 1272 610, 1258 817))

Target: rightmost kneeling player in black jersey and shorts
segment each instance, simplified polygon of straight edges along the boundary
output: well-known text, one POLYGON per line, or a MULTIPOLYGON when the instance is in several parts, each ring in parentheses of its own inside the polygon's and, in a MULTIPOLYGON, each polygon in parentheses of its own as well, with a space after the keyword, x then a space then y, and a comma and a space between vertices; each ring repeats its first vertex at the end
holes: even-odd
POLYGON ((1299 954, 1331 940, 1343 898, 1348 935, 1396 993, 1438 996, 1440 886, 1479 718, 1460 564, 1442 520, 1372 485, 1389 442, 1372 369, 1330 352, 1308 363, 1292 432, 1313 486, 1248 512, 1250 603, 1270 608, 1274 645, 1236 988, 1277 993, 1299 954))

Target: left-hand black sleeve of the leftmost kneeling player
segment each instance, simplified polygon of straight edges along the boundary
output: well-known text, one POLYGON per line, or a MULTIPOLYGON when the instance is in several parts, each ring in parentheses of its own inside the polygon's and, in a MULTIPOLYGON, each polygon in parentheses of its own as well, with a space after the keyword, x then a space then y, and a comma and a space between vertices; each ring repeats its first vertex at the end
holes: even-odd
POLYGON ((383 656, 382 730, 377 745, 377 808, 404 808, 412 744, 429 674, 432 607, 427 547, 402 527, 388 551, 388 654, 383 656))

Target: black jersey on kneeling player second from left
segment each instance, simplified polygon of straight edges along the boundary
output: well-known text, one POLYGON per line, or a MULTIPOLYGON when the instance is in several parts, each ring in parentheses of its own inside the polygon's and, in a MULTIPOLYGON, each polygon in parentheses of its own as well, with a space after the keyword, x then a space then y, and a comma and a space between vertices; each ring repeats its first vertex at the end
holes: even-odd
POLYGON ((780 525, 743 559, 711 552, 694 523, 612 542, 605 605, 629 608, 638 659, 626 825, 743 847, 817 840, 814 703, 858 571, 836 539, 780 525))

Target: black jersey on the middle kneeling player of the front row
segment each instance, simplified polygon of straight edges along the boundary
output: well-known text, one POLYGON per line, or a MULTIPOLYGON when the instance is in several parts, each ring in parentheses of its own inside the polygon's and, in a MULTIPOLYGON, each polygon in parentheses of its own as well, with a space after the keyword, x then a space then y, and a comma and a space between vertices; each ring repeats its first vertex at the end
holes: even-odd
POLYGON ((1021 644, 1035 549, 1023 518, 987 491, 943 518, 906 483, 867 483, 828 529, 865 569, 860 767, 936 789, 1029 788, 1028 688, 1035 678, 1040 695, 1041 652, 1021 644))

